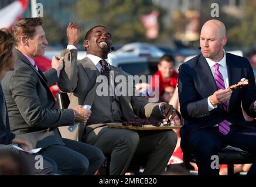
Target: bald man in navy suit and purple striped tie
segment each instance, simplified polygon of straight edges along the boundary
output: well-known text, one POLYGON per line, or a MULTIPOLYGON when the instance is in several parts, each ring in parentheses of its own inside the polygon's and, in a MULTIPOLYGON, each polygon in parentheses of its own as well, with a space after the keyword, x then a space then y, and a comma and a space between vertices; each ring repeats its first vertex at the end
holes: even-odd
MULTIPOLYGON (((211 168, 211 156, 226 146, 256 154, 256 126, 246 122, 245 112, 256 117, 256 88, 249 61, 226 53, 226 28, 219 20, 207 21, 200 33, 202 54, 179 68, 180 112, 185 125, 180 134, 186 154, 196 155, 199 175, 219 175, 211 168), (246 88, 228 86, 247 78, 246 88)), ((253 164, 248 175, 255 175, 253 164)))

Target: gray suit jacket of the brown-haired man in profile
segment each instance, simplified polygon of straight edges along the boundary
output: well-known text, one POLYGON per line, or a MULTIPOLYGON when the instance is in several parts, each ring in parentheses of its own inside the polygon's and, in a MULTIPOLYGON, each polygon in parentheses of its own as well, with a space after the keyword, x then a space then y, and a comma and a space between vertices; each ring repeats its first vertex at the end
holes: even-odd
POLYGON ((37 71, 17 50, 15 70, 2 80, 11 131, 25 137, 33 148, 64 145, 57 126, 74 123, 71 109, 58 110, 48 86, 57 82, 54 68, 37 71))

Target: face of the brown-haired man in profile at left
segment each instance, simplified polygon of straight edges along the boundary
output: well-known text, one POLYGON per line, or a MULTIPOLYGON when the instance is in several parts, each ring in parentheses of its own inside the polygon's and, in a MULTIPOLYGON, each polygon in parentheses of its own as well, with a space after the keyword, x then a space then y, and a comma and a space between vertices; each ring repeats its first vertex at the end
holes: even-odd
POLYGON ((28 39, 28 53, 31 57, 43 56, 48 44, 45 31, 42 26, 36 26, 36 31, 32 39, 28 39))

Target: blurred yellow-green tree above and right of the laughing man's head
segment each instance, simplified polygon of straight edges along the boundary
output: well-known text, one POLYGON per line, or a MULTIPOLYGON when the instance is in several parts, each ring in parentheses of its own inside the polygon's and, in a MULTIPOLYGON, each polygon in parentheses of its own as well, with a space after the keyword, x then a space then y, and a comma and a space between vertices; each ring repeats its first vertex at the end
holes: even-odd
POLYGON ((146 0, 81 0, 76 4, 77 17, 86 23, 86 30, 95 25, 107 26, 115 43, 148 41, 140 16, 153 9, 161 12, 146 0))

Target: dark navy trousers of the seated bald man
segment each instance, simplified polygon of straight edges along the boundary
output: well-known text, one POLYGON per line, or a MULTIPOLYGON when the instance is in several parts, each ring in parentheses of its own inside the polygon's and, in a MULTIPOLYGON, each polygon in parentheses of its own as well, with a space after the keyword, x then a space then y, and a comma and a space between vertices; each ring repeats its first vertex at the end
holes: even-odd
MULTIPOLYGON (((185 140, 182 138, 181 146, 183 153, 196 156, 199 175, 219 175, 219 169, 211 168, 211 156, 226 146, 233 146, 256 157, 256 128, 232 124, 230 132, 224 135, 219 127, 207 127, 192 131, 185 140)), ((256 164, 252 164, 248 175, 256 175, 255 167, 256 164)))

